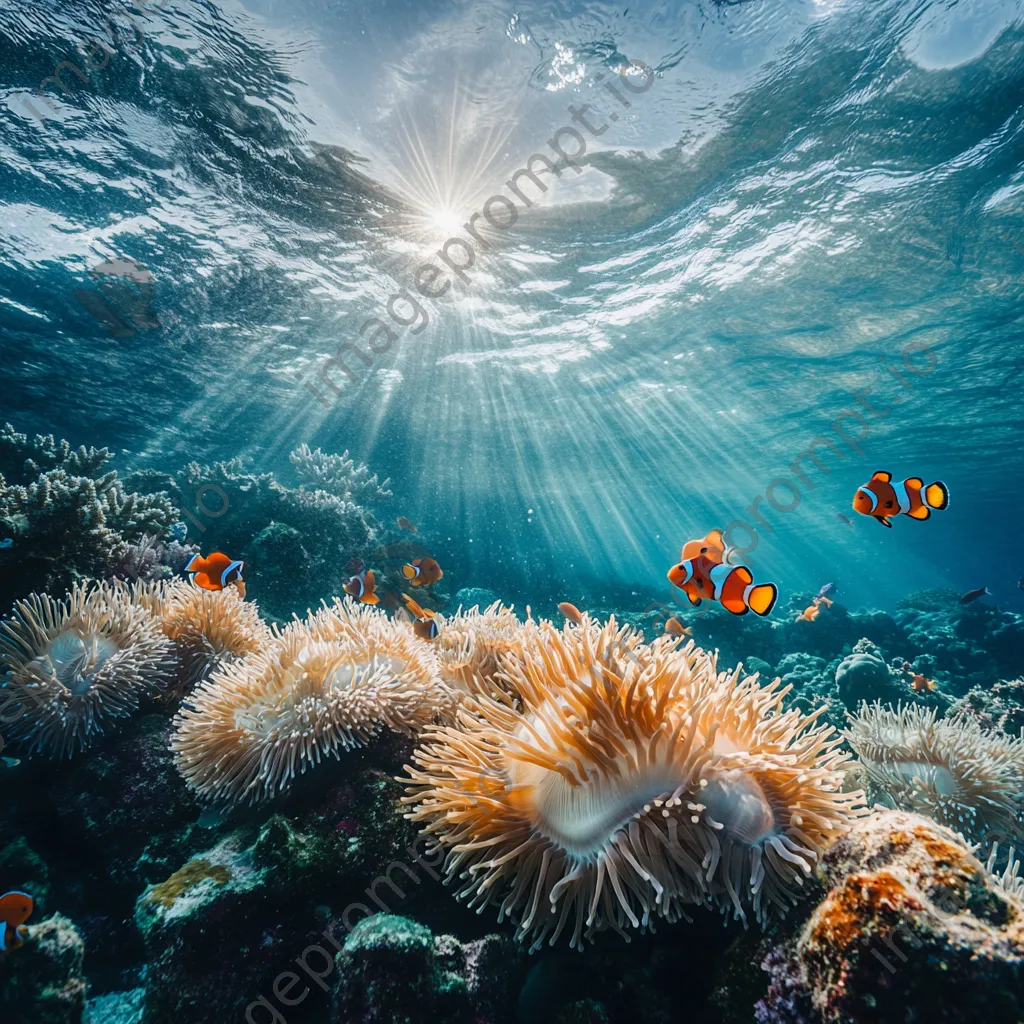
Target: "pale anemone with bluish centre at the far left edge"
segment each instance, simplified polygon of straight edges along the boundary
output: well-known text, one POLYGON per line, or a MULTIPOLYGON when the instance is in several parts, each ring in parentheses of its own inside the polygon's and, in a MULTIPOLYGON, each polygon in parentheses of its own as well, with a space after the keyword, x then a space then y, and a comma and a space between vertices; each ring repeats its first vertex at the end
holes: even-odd
POLYGON ((80 584, 63 601, 33 594, 14 605, 0 624, 0 669, 24 706, 11 738, 70 758, 167 687, 174 647, 127 588, 80 584))

